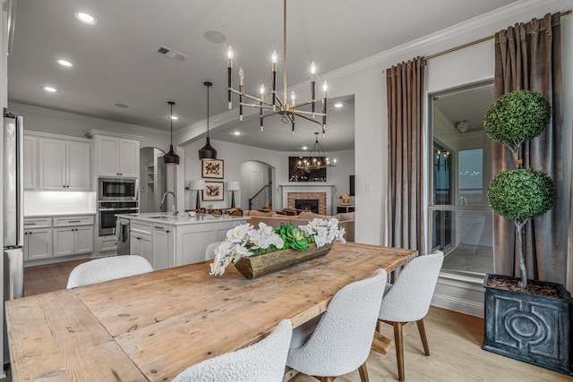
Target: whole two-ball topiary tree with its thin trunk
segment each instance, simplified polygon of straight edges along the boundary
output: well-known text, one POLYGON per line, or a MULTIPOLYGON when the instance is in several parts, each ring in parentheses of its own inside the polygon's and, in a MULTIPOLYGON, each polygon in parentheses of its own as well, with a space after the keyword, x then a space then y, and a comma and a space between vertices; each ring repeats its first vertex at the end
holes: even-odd
POLYGON ((556 189, 547 174, 523 168, 519 154, 524 141, 532 140, 545 130, 551 115, 552 107, 543 95, 519 90, 498 98, 483 118, 488 137, 509 148, 516 166, 501 171, 492 180, 487 197, 490 207, 500 216, 513 220, 516 226, 520 288, 527 286, 523 227, 552 208, 556 189))

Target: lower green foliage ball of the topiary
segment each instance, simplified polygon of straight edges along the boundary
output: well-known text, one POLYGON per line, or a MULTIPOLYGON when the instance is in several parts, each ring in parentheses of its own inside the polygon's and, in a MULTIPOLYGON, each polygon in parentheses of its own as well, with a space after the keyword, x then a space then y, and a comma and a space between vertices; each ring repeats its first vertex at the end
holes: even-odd
POLYGON ((487 193, 490 207, 511 220, 528 220, 543 215, 555 203, 552 178, 531 168, 500 172, 487 193))

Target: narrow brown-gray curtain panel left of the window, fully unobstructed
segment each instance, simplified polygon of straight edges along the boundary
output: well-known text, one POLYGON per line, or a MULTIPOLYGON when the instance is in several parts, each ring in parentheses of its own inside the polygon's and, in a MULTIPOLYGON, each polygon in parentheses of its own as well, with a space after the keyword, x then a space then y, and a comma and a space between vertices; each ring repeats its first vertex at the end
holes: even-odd
POLYGON ((425 253, 423 241, 423 88, 425 59, 386 71, 389 246, 425 253))

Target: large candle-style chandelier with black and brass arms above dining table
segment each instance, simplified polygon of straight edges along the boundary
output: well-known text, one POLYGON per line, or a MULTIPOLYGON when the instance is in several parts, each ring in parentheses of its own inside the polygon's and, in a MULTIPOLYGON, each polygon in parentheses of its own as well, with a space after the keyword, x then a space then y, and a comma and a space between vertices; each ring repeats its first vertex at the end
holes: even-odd
POLYGON ((260 97, 253 97, 244 92, 244 72, 243 68, 239 68, 239 89, 233 88, 233 48, 229 47, 227 50, 227 57, 229 60, 228 72, 228 107, 229 110, 233 107, 232 95, 233 93, 239 96, 239 121, 243 121, 243 107, 257 107, 260 109, 261 132, 264 129, 264 118, 269 115, 282 115, 281 121, 283 123, 291 123, 291 130, 293 136, 295 135, 295 121, 296 118, 303 118, 304 120, 321 125, 322 135, 326 133, 326 100, 327 100, 327 83, 324 82, 322 86, 322 112, 316 112, 316 98, 315 98, 315 83, 316 83, 316 65, 314 62, 311 64, 311 99, 299 104, 295 103, 295 92, 291 92, 290 104, 288 103, 287 87, 286 87, 286 0, 284 0, 284 34, 283 34, 283 81, 284 81, 284 95, 280 98, 277 93, 277 51, 272 52, 271 56, 271 72, 272 72, 272 89, 271 89, 271 102, 265 100, 265 88, 261 85, 260 97), (249 104, 244 102, 244 98, 249 98, 257 103, 249 104), (311 106, 311 111, 301 110, 301 107, 311 106), (268 111, 265 114, 265 111, 268 111), (314 118, 321 116, 322 121, 319 122, 314 118))

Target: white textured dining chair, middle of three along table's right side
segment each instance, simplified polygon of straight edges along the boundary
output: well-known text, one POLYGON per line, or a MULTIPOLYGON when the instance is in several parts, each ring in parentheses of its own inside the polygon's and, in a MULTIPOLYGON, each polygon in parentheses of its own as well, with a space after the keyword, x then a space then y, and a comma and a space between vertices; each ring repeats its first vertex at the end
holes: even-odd
POLYGON ((303 325, 293 332, 286 365, 322 382, 358 369, 368 381, 366 359, 380 310, 386 271, 347 284, 334 295, 316 327, 303 325))

